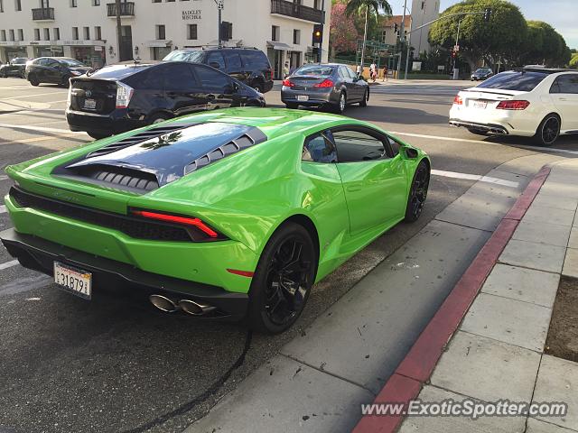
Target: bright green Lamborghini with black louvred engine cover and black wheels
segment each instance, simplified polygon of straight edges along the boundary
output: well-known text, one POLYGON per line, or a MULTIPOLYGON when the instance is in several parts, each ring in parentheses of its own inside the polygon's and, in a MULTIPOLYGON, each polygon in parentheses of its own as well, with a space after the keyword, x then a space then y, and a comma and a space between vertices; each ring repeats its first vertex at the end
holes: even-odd
POLYGON ((372 124, 246 107, 6 173, 14 229, 0 238, 23 266, 85 299, 129 288, 163 311, 277 333, 315 281, 420 216, 430 161, 372 124))

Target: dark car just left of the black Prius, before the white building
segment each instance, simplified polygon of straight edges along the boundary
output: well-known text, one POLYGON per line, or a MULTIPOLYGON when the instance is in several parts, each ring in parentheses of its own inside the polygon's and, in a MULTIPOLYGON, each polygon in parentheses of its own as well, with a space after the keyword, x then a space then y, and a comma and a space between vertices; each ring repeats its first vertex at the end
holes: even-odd
POLYGON ((39 57, 26 64, 25 78, 33 86, 40 83, 69 86, 69 78, 86 74, 91 68, 68 57, 39 57))

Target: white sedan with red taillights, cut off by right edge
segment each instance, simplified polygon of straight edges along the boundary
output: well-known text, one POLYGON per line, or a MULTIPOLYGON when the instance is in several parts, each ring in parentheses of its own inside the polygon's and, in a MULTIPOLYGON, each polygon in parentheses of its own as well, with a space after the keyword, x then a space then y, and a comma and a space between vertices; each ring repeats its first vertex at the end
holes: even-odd
POLYGON ((549 146, 578 134, 578 72, 522 68, 501 72, 453 99, 450 124, 473 134, 534 137, 549 146))

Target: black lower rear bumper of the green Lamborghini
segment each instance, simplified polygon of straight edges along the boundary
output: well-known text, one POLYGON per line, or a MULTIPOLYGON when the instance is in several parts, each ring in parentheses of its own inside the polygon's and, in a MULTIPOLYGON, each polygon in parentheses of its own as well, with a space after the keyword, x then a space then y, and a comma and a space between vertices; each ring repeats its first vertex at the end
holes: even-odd
POLYGON ((216 318, 241 319, 247 311, 246 293, 229 292, 210 284, 144 272, 130 264, 83 253, 37 236, 23 235, 14 229, 0 232, 0 239, 8 253, 27 268, 52 275, 56 261, 91 272, 97 293, 132 289, 142 297, 157 293, 173 299, 192 299, 217 307, 219 315, 216 318))

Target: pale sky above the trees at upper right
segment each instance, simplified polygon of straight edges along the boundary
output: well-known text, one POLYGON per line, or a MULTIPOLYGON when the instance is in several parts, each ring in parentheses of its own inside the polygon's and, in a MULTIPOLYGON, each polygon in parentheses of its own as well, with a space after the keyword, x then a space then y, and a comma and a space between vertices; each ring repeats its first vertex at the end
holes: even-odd
MULTIPOLYGON (((432 2, 433 0, 426 0, 432 2)), ((508 0, 517 5, 527 20, 544 21, 552 25, 556 32, 564 36, 566 45, 578 49, 578 0, 508 0)), ((395 15, 401 15, 404 0, 388 0, 395 15)), ((459 0, 441 0, 440 12, 459 0)), ((412 1, 407 0, 411 8, 412 1)))

